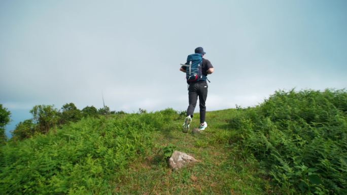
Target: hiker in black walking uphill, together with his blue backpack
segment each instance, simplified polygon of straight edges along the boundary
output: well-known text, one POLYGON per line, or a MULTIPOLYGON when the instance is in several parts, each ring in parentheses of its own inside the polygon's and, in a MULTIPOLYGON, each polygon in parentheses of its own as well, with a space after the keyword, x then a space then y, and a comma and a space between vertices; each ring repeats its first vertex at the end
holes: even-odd
POLYGON ((182 64, 180 70, 186 73, 188 87, 189 106, 187 109, 187 117, 183 124, 183 132, 187 133, 189 124, 192 121, 197 98, 199 97, 200 107, 200 125, 199 130, 207 127, 205 122, 206 98, 207 98, 207 74, 214 72, 214 67, 207 59, 202 58, 206 52, 201 47, 195 49, 195 54, 191 54, 187 58, 187 63, 182 64))

